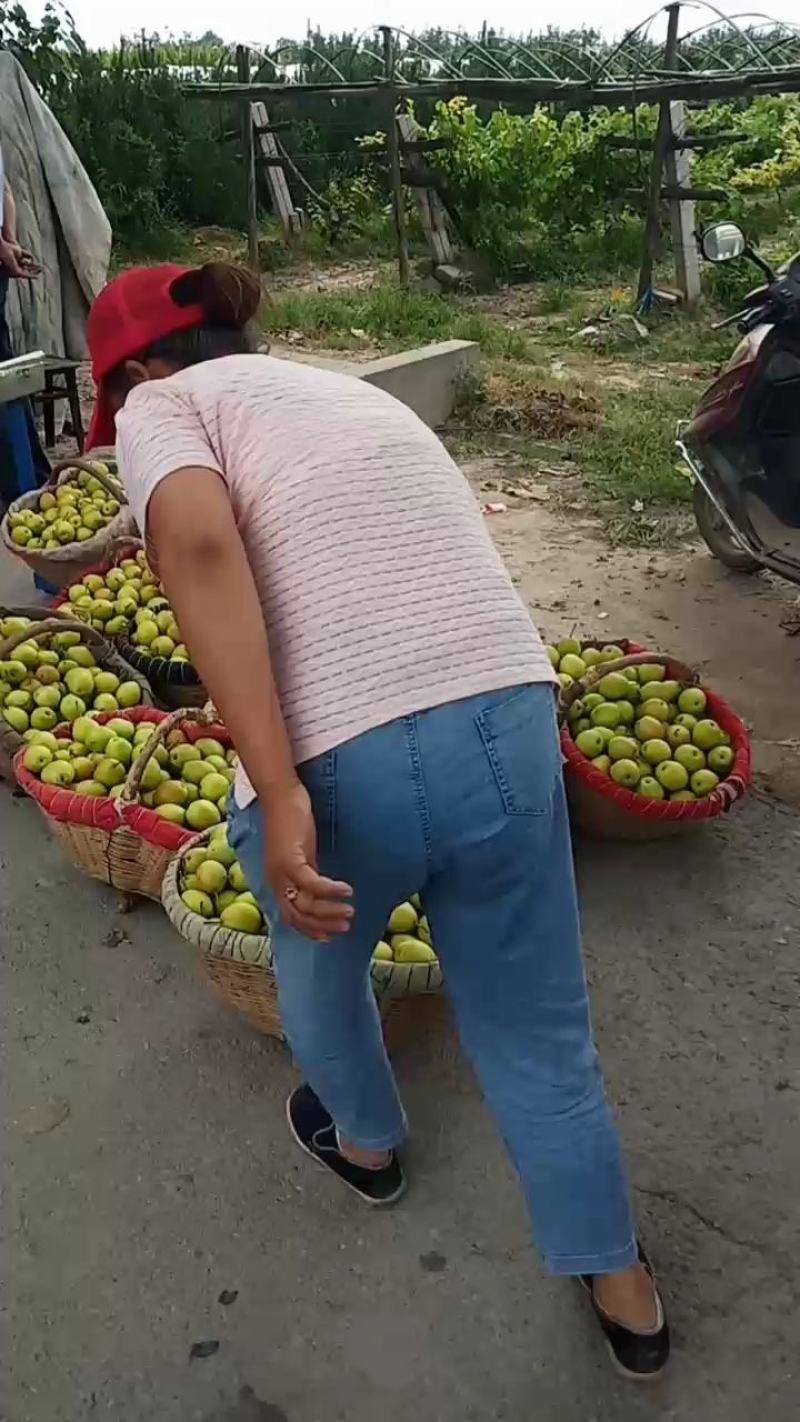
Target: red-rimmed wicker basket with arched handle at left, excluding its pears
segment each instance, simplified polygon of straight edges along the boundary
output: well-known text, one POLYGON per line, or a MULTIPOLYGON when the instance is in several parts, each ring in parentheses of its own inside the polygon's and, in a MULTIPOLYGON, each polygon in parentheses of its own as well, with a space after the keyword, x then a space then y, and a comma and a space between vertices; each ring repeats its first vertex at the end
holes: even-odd
MULTIPOLYGON (((119 799, 95 799, 75 795, 70 788, 44 785, 26 771, 24 749, 14 758, 14 771, 21 788, 37 802, 77 869, 125 894, 161 900, 166 866, 179 849, 195 839, 195 830, 173 825, 138 802, 145 765, 176 727, 190 741, 213 735, 230 747, 230 737, 223 725, 203 711, 179 710, 168 714, 153 707, 135 707, 97 717, 101 724, 117 718, 136 725, 142 721, 153 725, 153 735, 134 757, 119 799)), ((55 735, 68 738, 70 727, 57 727, 55 735)))

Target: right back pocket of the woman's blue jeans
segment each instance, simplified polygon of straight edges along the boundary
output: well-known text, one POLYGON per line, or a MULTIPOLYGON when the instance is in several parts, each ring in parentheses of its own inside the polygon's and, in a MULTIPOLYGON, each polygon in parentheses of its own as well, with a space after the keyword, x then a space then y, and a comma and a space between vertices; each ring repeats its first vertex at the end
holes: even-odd
POLYGON ((547 815, 561 774, 553 688, 514 691, 476 717, 507 815, 547 815))

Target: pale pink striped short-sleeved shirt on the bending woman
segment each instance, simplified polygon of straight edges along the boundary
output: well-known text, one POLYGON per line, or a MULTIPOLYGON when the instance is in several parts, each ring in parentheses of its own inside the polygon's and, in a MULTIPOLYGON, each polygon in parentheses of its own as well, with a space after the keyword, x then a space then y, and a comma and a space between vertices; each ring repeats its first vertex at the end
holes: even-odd
MULTIPOLYGON (((351 375, 229 356, 118 417, 134 516, 176 469, 226 482, 297 764, 413 711, 553 668, 459 468, 351 375)), ((242 775, 236 798, 253 798, 242 775)))

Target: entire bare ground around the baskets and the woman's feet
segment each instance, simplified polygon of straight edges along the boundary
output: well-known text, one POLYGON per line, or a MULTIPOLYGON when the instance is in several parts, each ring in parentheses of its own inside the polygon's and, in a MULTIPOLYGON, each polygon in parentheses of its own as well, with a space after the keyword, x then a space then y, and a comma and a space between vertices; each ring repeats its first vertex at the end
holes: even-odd
MULTIPOLYGON (((503 498, 497 469, 467 474, 503 498)), ((0 789, 3 1422, 797 1415, 790 597, 699 549, 612 550, 546 476, 507 502, 492 533, 543 630, 692 661, 750 721, 783 796, 753 795, 693 838, 578 845, 594 1014, 674 1318, 671 1375, 618 1382, 577 1291, 541 1274, 449 1041, 398 1061, 412 1190, 365 1214, 288 1140, 284 1049, 216 1003, 155 906, 121 917, 36 806, 0 789), (195 1344, 217 1347, 192 1358, 195 1344)), ((27 594, 1 563, 0 602, 27 594)))

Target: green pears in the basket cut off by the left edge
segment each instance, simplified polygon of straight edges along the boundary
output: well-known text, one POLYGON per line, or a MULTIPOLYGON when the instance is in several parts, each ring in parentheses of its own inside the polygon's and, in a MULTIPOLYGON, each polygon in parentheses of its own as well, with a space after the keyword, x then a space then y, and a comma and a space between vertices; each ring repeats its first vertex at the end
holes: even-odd
MULTIPOLYGON (((37 627, 30 617, 3 617, 0 640, 28 627, 31 633, 37 627)), ((0 661, 0 715, 24 741, 31 732, 53 731, 60 721, 77 721, 88 711, 129 710, 141 700, 139 683, 98 667, 78 631, 31 637, 0 661)))

